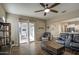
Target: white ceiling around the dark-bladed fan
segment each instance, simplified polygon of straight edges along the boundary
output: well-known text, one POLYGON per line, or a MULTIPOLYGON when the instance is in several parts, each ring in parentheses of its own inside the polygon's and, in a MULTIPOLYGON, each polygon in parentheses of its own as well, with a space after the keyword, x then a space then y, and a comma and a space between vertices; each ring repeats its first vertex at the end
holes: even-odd
MULTIPOLYGON (((53 3, 51 3, 53 4, 53 3)), ((49 4, 49 5, 51 5, 49 4)), ((41 19, 52 19, 58 15, 62 15, 62 11, 66 10, 67 12, 72 12, 79 9, 79 3, 61 3, 60 5, 54 7, 59 11, 59 13, 49 12, 46 16, 44 16, 44 12, 34 13, 36 10, 41 10, 43 7, 40 6, 39 3, 5 3, 3 4, 4 8, 8 13, 31 16, 41 19)))

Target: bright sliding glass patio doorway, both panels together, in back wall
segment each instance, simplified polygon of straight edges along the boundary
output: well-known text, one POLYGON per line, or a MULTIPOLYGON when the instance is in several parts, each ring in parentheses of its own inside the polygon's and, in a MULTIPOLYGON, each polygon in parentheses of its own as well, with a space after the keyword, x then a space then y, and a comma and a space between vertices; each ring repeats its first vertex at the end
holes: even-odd
POLYGON ((19 22, 19 42, 29 43, 35 41, 35 25, 31 22, 19 22))

